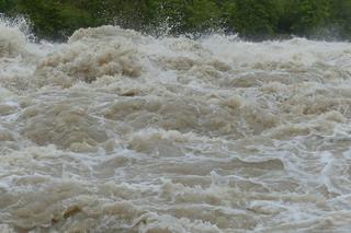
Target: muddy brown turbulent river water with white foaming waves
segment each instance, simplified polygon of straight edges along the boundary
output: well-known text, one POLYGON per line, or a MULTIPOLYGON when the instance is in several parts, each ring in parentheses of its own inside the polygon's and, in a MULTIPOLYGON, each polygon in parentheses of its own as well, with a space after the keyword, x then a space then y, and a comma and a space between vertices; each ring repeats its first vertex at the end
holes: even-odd
POLYGON ((350 232, 351 44, 27 37, 0 23, 0 232, 350 232))

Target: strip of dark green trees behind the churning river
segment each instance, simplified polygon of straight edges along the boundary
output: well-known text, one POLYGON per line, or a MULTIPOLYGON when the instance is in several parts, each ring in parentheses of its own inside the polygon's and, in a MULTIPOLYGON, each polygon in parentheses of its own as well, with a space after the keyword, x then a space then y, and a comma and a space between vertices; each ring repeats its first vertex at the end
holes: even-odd
POLYGON ((351 38, 351 0, 0 0, 0 12, 25 15, 48 39, 103 24, 154 34, 222 30, 251 39, 351 38))

